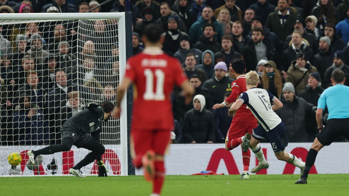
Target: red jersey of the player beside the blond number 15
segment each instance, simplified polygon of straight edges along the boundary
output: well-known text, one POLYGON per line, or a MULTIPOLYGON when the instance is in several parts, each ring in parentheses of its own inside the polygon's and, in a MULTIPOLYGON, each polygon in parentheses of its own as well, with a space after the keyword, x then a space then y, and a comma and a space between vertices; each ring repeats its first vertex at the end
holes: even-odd
MULTIPOLYGON (((240 75, 231 83, 231 94, 225 101, 228 101, 229 103, 235 102, 241 93, 247 91, 245 76, 246 75, 240 75)), ((247 105, 243 104, 239 110, 236 111, 236 115, 233 117, 232 122, 257 122, 257 119, 254 117, 247 105)))

